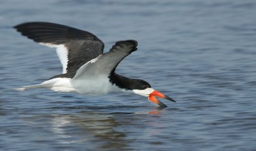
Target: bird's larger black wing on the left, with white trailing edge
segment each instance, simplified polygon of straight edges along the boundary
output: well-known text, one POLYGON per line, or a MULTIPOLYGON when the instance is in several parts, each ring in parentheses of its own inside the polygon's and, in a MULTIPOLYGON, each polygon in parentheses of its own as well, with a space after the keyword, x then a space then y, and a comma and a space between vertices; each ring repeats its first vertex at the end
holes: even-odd
POLYGON ((41 45, 56 48, 65 77, 73 78, 77 69, 103 52, 104 43, 90 32, 49 22, 28 22, 14 27, 41 45))

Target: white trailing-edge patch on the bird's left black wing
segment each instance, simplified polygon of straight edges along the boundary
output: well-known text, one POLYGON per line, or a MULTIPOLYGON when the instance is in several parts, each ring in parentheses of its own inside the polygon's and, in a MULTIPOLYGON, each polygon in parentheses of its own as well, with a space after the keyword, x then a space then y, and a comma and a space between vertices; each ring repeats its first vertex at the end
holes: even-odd
POLYGON ((62 73, 67 73, 67 66, 68 66, 68 49, 65 47, 65 45, 55 45, 52 43, 39 43, 40 45, 44 45, 46 47, 56 48, 56 52, 58 54, 58 57, 60 59, 60 62, 63 67, 62 73))

